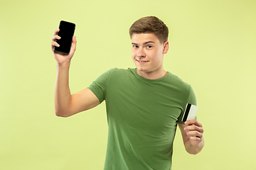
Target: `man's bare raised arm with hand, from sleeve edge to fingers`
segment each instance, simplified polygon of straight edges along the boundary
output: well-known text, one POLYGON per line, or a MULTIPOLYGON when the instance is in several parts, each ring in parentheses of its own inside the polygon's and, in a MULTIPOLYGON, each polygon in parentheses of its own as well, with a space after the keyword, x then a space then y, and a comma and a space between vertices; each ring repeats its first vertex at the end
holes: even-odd
POLYGON ((75 53, 76 48, 76 37, 73 36, 73 42, 70 49, 69 55, 63 55, 53 50, 54 46, 59 46, 56 39, 60 39, 58 36, 59 29, 55 30, 54 36, 51 42, 51 49, 53 56, 57 62, 57 76, 55 81, 54 90, 54 108, 55 114, 61 117, 68 117, 86 111, 100 104, 99 99, 90 89, 83 89, 75 94, 70 94, 69 87, 69 69, 70 61, 75 53))

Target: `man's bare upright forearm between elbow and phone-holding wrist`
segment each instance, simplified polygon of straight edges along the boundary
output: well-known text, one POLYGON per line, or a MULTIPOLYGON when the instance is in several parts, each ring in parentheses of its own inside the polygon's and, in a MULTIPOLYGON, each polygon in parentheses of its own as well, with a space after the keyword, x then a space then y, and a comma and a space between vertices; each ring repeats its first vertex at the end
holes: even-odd
POLYGON ((68 116, 68 108, 70 106, 70 88, 69 88, 69 68, 70 62, 57 64, 57 76, 54 89, 54 108, 55 114, 58 116, 68 116))

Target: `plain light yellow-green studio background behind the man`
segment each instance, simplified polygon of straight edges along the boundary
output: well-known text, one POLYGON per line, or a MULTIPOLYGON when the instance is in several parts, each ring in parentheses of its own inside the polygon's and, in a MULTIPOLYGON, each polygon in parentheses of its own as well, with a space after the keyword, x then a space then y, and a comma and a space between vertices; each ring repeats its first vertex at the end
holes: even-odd
POLYGON ((134 67, 129 26, 157 16, 169 26, 164 68, 193 86, 206 145, 187 154, 177 130, 173 169, 256 169, 256 1, 1 1, 0 169, 103 169, 105 104, 55 116, 60 20, 76 24, 70 89, 113 67, 134 67))

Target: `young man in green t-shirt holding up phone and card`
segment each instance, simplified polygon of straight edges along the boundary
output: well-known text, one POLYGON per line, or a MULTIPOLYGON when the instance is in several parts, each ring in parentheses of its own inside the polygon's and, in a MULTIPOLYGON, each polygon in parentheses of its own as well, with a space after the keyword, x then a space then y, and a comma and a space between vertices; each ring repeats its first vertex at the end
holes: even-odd
MULTIPOLYGON (((55 30, 52 50, 59 29, 55 30)), ((69 55, 53 50, 57 61, 55 113, 68 117, 105 100, 109 137, 105 170, 171 169, 173 142, 178 124, 186 151, 203 148, 203 127, 198 120, 181 121, 186 104, 196 105, 189 84, 166 72, 164 54, 169 50, 168 28, 154 16, 140 18, 129 30, 136 69, 110 69, 76 94, 70 94, 68 72, 76 47, 69 55)))

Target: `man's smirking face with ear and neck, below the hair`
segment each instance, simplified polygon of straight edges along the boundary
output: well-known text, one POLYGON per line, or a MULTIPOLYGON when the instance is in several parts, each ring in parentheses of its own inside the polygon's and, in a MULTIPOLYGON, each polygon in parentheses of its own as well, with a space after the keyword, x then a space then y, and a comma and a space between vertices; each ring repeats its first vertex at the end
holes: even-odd
POLYGON ((161 74, 169 42, 161 43, 154 33, 132 34, 132 60, 139 75, 161 74))

